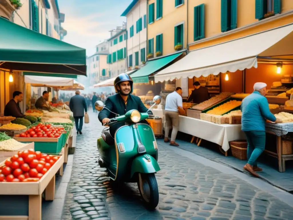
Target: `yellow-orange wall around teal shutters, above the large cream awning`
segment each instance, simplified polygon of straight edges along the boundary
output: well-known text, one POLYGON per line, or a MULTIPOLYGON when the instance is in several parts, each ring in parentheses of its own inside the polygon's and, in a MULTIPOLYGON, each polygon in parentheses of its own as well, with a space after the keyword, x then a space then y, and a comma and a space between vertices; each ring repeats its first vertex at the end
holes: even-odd
MULTIPOLYGON (((215 37, 220 35, 221 32, 221 1, 214 0, 193 0, 188 1, 188 44, 193 43, 193 27, 194 27, 194 7, 200 4, 205 4, 205 38, 215 37)), ((282 0, 282 11, 285 13, 293 10, 292 0, 282 0)), ((266 18, 270 19, 270 18, 266 18)), ((265 21, 264 19, 263 21, 265 21)), ((256 23, 258 19, 255 19, 255 0, 238 0, 237 8, 237 28, 247 26, 249 24, 256 23)), ((189 50, 195 50, 202 47, 215 45, 218 43, 226 42, 243 36, 251 35, 261 31, 266 31, 272 28, 276 28, 285 24, 293 22, 293 16, 288 15, 283 18, 276 19, 267 23, 263 23, 246 30, 239 31, 237 33, 231 33, 219 38, 215 38, 209 41, 198 43, 195 45, 189 45, 189 50)), ((235 31, 237 29, 234 29, 235 31)), ((229 33, 229 32, 227 32, 229 33)))

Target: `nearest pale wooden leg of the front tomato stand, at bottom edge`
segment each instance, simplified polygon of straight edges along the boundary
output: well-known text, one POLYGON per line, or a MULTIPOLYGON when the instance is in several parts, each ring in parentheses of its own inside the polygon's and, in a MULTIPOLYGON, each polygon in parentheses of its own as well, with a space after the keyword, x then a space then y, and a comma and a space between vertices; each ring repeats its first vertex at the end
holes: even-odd
POLYGON ((42 219, 42 195, 29 195, 28 220, 42 219))

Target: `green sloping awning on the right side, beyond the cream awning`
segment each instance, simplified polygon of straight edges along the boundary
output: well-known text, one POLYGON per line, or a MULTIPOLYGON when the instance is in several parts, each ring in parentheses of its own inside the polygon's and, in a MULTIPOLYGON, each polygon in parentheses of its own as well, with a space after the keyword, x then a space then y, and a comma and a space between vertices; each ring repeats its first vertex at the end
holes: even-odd
POLYGON ((182 53, 176 53, 170 56, 162 57, 156 60, 151 60, 142 67, 140 70, 137 70, 134 74, 131 75, 134 83, 145 83, 149 82, 149 75, 159 70, 163 69, 171 61, 175 60, 182 53))

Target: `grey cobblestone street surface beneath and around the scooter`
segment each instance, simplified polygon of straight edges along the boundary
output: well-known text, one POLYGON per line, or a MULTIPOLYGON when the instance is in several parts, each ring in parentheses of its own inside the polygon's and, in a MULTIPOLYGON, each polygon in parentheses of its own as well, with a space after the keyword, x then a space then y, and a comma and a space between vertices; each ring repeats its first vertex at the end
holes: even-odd
POLYGON ((89 113, 90 123, 77 136, 62 219, 292 219, 288 204, 238 177, 175 153, 162 140, 161 171, 156 174, 160 201, 155 211, 147 211, 136 184, 110 185, 105 169, 99 167, 96 140, 103 127, 97 115, 89 113))

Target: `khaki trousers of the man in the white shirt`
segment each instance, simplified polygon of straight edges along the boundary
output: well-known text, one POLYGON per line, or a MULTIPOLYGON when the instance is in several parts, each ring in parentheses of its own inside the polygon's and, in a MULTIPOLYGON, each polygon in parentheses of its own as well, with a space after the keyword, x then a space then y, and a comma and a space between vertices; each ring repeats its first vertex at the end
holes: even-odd
POLYGON ((171 126, 173 126, 171 141, 175 141, 179 128, 179 113, 177 111, 165 111, 165 138, 168 138, 171 126))

